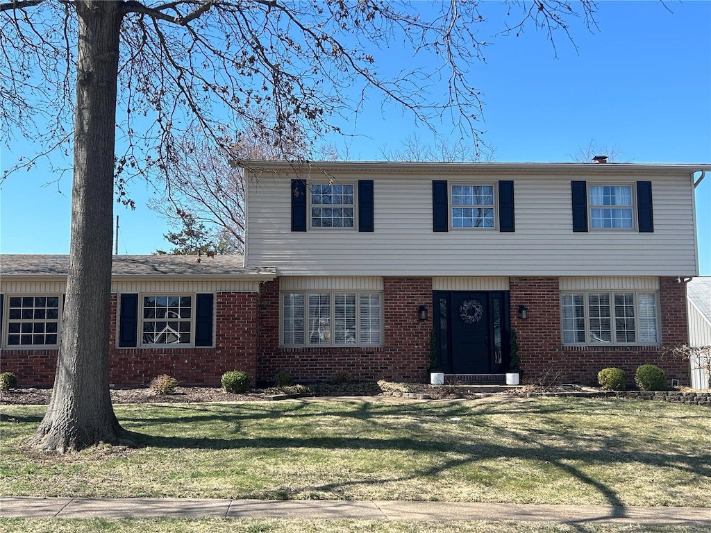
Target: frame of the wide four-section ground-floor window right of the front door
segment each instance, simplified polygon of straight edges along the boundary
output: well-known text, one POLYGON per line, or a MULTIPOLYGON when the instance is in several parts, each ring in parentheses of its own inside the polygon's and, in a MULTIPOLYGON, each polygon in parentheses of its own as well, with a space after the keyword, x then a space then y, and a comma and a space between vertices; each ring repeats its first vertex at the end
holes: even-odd
MULTIPOLYGON (((629 289, 614 289, 614 290, 588 290, 588 291, 561 291, 560 293, 560 339, 564 346, 660 346, 661 345, 661 312, 659 304, 659 292, 658 291, 635 291, 629 289), (623 294, 633 294, 634 295, 634 341, 633 342, 620 342, 617 340, 617 328, 616 320, 619 318, 616 315, 616 305, 615 296, 623 294), (566 342, 564 333, 564 306, 563 298, 564 296, 579 296, 583 297, 583 313, 584 313, 584 342, 566 342), (609 342, 593 342, 592 333, 590 328, 590 311, 589 311, 589 296, 592 295, 607 295, 609 297, 609 310, 610 310, 610 328, 611 328, 611 340, 609 342), (641 305, 640 296, 641 295, 651 295, 654 298, 654 309, 655 316, 654 321, 656 322, 656 342, 646 343, 641 341, 641 305)), ((572 330, 575 331, 575 330, 572 330)), ((624 331, 621 329, 620 331, 624 331)))

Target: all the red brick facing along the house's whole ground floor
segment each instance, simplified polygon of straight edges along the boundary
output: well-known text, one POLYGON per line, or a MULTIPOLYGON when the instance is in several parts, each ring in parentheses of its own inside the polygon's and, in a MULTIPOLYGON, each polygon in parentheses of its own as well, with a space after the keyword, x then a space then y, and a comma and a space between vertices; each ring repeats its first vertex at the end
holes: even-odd
MULTIPOLYGON (((687 342, 685 284, 660 279, 661 340, 665 346, 687 342)), ((283 348, 279 346, 279 279, 262 285, 262 294, 220 292, 215 297, 215 347, 115 348, 116 301, 111 301, 109 380, 117 387, 145 386, 159 374, 184 385, 215 386, 228 370, 245 370, 255 383, 272 382, 290 372, 300 382, 333 379, 345 370, 353 379, 424 382, 432 328, 432 279, 383 279, 384 343, 377 348, 283 348), (429 320, 417 319, 425 305, 429 320)), ((663 356, 659 347, 567 347, 560 336, 557 278, 510 278, 511 328, 518 333, 523 379, 558 375, 559 382, 597 385, 597 372, 620 367, 634 384, 639 365, 662 367, 669 379, 690 383, 689 362, 663 356), (528 307, 527 320, 518 306, 528 307)), ((3 350, 0 369, 15 372, 22 387, 51 387, 57 350, 3 350)))

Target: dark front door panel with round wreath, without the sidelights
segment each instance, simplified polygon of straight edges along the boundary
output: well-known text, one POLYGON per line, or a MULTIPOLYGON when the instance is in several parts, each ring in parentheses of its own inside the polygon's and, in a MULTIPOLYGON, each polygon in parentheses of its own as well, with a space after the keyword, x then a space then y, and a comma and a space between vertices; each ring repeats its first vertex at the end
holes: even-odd
POLYGON ((489 312, 486 293, 454 292, 451 295, 451 362, 454 374, 488 374, 489 312))

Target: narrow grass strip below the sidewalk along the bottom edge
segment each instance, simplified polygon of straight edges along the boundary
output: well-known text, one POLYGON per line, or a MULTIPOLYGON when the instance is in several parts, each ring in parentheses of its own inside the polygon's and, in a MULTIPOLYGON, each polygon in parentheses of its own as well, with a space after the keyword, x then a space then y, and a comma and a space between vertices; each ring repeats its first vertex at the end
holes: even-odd
POLYGON ((707 526, 350 519, 0 519, 5 533, 708 533, 707 526))

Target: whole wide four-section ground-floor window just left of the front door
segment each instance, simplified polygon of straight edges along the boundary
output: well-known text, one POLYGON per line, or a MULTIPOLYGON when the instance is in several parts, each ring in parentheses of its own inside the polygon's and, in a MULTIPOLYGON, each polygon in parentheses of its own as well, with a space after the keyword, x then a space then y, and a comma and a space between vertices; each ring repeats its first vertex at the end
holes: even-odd
POLYGON ((383 339, 383 295, 282 292, 284 346, 377 346, 383 339))

